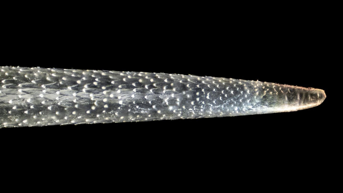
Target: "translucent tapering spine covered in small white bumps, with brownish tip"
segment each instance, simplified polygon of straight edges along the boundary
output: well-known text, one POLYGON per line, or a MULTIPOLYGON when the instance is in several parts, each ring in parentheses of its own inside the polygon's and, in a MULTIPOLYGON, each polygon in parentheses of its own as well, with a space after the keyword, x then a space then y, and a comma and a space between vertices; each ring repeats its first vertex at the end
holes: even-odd
POLYGON ((0 67, 0 128, 289 112, 320 89, 148 72, 0 67))

